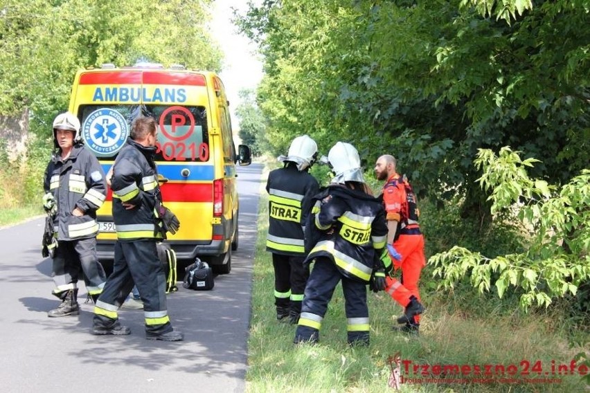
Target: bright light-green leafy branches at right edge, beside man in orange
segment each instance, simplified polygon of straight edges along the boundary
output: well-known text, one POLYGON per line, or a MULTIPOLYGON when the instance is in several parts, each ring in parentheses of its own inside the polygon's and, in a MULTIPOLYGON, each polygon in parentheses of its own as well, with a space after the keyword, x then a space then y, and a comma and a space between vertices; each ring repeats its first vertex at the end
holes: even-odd
POLYGON ((521 160, 519 152, 503 147, 499 156, 479 149, 474 161, 483 175, 483 190, 491 192, 494 217, 510 217, 528 228, 528 247, 523 253, 488 258, 462 247, 454 247, 429 259, 441 277, 440 286, 452 288, 463 277, 472 286, 490 291, 492 284, 500 298, 513 287, 524 293, 520 306, 547 307, 553 298, 575 295, 578 286, 590 278, 590 170, 582 170, 558 190, 543 180, 533 180, 526 167, 538 162, 521 160), (492 282, 492 277, 497 277, 492 282))

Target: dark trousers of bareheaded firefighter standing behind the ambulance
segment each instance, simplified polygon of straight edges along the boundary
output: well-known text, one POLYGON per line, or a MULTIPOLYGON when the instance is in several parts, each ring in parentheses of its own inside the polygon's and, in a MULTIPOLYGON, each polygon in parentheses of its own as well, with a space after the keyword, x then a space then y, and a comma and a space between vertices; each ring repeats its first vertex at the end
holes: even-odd
POLYGON ((117 311, 134 284, 143 301, 145 332, 160 335, 173 331, 166 309, 166 273, 155 240, 115 243, 113 273, 94 307, 94 326, 107 329, 114 326, 117 311))

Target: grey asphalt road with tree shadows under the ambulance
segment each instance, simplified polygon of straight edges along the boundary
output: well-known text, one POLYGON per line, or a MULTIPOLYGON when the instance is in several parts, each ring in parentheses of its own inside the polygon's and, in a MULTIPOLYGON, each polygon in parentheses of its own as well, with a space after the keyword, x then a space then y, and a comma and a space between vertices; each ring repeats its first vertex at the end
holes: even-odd
POLYGON ((257 164, 238 168, 240 244, 231 273, 216 276, 213 291, 179 282, 168 295, 182 342, 145 340, 142 310, 120 311, 129 336, 91 335, 83 282, 80 316, 48 318, 59 301, 51 259, 40 252, 44 219, 0 229, 2 392, 243 392, 261 172, 257 164))

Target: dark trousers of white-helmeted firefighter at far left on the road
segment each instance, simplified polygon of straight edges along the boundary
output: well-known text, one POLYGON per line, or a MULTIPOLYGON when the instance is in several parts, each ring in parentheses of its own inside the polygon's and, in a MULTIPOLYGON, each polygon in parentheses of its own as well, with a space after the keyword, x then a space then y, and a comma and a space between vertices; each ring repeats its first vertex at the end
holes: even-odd
POLYGON ((63 300, 69 289, 78 288, 82 275, 89 295, 99 295, 107 275, 96 255, 96 237, 58 241, 53 255, 53 295, 63 300))

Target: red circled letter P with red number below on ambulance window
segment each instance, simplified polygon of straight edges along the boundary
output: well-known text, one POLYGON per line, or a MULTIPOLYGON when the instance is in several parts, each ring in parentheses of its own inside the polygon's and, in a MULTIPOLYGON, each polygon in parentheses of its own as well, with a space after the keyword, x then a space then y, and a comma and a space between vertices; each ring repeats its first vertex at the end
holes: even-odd
POLYGON ((163 138, 158 138, 157 152, 161 153, 166 161, 209 159, 209 146, 206 143, 197 146, 195 143, 195 116, 185 107, 169 107, 163 111, 159 127, 163 138))

